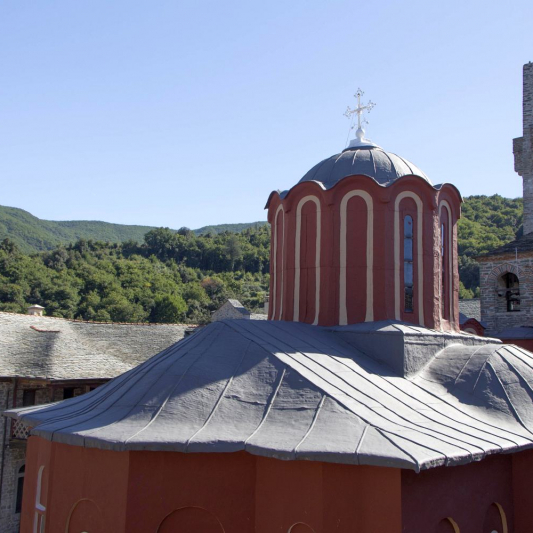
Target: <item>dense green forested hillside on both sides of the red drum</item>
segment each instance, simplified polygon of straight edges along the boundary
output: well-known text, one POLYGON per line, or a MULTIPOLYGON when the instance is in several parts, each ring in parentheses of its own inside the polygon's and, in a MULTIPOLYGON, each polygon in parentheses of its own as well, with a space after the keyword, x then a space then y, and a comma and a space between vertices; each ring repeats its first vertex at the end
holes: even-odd
MULTIPOLYGON (((521 221, 521 199, 465 198, 458 229, 461 297, 479 291, 474 257, 513 240, 521 221)), ((36 303, 67 318, 191 323, 208 321, 232 297, 258 310, 268 291, 269 247, 270 227, 261 223, 240 233, 150 229, 142 242, 82 238, 31 254, 4 239, 0 310, 25 312, 36 303)))

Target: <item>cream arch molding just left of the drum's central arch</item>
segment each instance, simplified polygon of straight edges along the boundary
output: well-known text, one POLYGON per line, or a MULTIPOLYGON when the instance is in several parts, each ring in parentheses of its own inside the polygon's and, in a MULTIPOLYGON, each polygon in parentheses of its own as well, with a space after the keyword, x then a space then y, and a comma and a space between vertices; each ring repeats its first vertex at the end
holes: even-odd
POLYGON ((320 313, 320 231, 322 211, 320 209, 320 200, 314 195, 304 196, 296 208, 296 242, 294 247, 294 313, 293 321, 300 321, 300 248, 302 235, 302 208, 307 202, 313 202, 316 205, 316 255, 315 255, 315 318, 313 325, 318 324, 318 315, 320 313))

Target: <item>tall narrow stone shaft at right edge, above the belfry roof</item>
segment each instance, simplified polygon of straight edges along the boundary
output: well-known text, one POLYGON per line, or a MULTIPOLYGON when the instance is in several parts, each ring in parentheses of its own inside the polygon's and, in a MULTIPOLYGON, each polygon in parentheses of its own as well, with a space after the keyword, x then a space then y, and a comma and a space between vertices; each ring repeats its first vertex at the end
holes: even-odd
POLYGON ((524 180, 524 235, 533 232, 533 63, 524 65, 523 134, 513 139, 514 168, 524 180))

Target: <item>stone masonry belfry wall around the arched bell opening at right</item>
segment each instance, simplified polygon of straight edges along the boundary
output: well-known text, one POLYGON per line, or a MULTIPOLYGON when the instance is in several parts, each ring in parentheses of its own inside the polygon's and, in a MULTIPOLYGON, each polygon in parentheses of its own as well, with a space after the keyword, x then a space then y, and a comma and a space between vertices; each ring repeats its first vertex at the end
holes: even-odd
POLYGON ((479 270, 485 334, 497 335, 509 327, 533 325, 533 253, 520 254, 518 261, 511 255, 485 258, 479 261, 479 270), (498 295, 498 279, 507 272, 518 276, 520 311, 508 312, 505 296, 498 295))

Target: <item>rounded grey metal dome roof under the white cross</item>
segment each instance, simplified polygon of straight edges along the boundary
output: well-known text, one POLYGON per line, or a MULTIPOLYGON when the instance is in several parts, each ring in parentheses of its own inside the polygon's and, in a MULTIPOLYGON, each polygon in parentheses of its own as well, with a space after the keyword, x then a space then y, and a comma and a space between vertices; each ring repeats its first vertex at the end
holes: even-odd
POLYGON ((419 176, 432 185, 417 166, 403 157, 385 152, 376 145, 349 147, 315 165, 300 181, 318 181, 331 189, 347 176, 362 174, 375 179, 380 185, 390 185, 402 176, 419 176))

